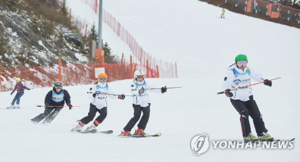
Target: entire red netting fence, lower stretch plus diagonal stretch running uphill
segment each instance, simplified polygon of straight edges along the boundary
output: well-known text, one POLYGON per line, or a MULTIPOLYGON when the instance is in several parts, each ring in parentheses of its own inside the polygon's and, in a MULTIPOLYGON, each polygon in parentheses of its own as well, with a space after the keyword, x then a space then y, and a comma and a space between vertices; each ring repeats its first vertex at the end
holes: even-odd
MULTIPOLYGON (((82 0, 98 12, 97 0, 82 0)), ((100 63, 100 64, 64 64, 53 67, 21 67, 1 70, 0 66, 0 91, 12 90, 15 86, 15 78, 21 78, 23 84, 29 88, 51 87, 53 83, 62 79, 64 85, 92 84, 95 80, 95 68, 105 68, 107 81, 132 79, 133 72, 137 69, 144 71, 146 78, 177 78, 176 63, 156 60, 146 53, 137 41, 116 19, 105 10, 103 20, 115 31, 115 33, 126 42, 132 53, 140 63, 100 63), (59 67, 61 67, 59 72, 59 67)))

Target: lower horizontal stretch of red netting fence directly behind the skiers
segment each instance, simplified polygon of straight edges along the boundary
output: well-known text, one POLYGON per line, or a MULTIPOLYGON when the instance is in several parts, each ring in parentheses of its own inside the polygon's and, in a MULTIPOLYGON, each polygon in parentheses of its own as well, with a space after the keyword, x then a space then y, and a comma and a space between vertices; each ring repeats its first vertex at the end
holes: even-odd
MULTIPOLYGON (((99 63, 99 64, 64 64, 61 66, 61 78, 64 85, 92 84, 95 81, 95 68, 105 68, 107 81, 132 79, 133 72, 140 69, 137 63, 99 63)), ((147 78, 157 78, 158 71, 149 66, 142 67, 147 78)), ((29 88, 51 87, 59 80, 58 66, 53 67, 21 67, 1 70, 0 91, 10 91, 15 86, 15 78, 21 78, 29 88)))

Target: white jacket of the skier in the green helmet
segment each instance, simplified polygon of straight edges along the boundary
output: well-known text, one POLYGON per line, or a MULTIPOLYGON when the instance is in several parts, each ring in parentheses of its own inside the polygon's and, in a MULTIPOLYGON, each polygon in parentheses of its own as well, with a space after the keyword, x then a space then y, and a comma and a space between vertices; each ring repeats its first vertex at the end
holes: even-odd
MULTIPOLYGON (((225 75, 225 78, 222 83, 222 91, 226 89, 235 89, 238 87, 244 87, 246 85, 251 85, 251 79, 262 82, 264 80, 263 76, 256 70, 246 67, 244 70, 238 69, 235 64, 229 67, 229 71, 225 75)), ((231 99, 233 100, 241 100, 241 101, 248 101, 249 96, 252 94, 251 86, 236 89, 231 91, 233 96, 231 99)))

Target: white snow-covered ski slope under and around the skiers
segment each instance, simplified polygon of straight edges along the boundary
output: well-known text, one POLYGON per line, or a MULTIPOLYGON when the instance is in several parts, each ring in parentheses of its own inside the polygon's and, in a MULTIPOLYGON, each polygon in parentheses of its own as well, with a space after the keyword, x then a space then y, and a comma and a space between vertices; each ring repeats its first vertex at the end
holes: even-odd
MULTIPOLYGON (((67 3, 92 17, 92 10, 80 0, 67 3)), ((221 8, 196 0, 110 0, 104 1, 103 7, 145 51, 177 62, 179 78, 146 78, 157 87, 182 87, 164 94, 149 92, 152 106, 145 132, 162 136, 116 137, 133 116, 130 97, 108 101, 108 116, 98 129, 112 129, 113 134, 71 133, 76 121, 88 113, 86 91, 90 85, 64 87, 70 92, 72 105, 81 107, 63 109, 47 126, 32 124, 30 119, 43 112, 36 106, 43 105, 51 87, 25 90, 21 109, 14 110, 5 107, 15 93, 1 92, 0 161, 298 161, 299 29, 228 10, 226 19, 220 19, 221 8), (242 140, 238 113, 225 95, 217 95, 226 67, 239 53, 247 54, 248 66, 265 78, 282 77, 273 81, 272 87, 258 84, 252 88, 268 133, 281 140, 296 138, 294 148, 214 149, 211 145, 207 152, 194 155, 190 143, 197 135, 206 134, 210 141, 242 140)), ((105 24, 103 38, 114 50, 130 51, 105 24)), ((122 80, 110 86, 115 93, 130 94, 130 83, 122 80)), ((252 132, 255 134, 253 124, 252 132)))

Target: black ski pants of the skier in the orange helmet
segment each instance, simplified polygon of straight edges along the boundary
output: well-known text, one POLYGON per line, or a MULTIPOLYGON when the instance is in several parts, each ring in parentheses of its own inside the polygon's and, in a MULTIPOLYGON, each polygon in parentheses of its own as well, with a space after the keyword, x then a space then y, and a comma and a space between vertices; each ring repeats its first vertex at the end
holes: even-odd
POLYGON ((99 110, 92 103, 89 104, 89 112, 88 112, 87 116, 85 116, 84 118, 82 118, 80 121, 83 122, 84 124, 87 124, 87 123, 91 122, 94 119, 94 117, 96 116, 97 112, 99 112, 100 115, 94 120, 94 124, 96 126, 98 126, 100 123, 103 122, 103 120, 107 116, 107 107, 104 107, 104 108, 102 108, 102 109, 99 110))

